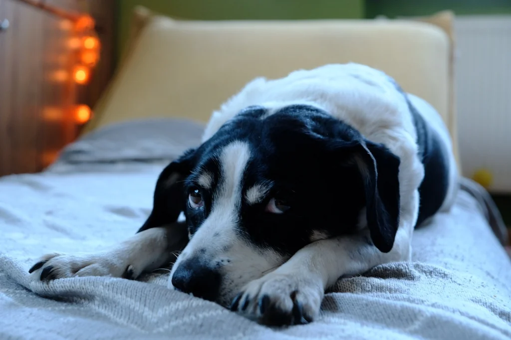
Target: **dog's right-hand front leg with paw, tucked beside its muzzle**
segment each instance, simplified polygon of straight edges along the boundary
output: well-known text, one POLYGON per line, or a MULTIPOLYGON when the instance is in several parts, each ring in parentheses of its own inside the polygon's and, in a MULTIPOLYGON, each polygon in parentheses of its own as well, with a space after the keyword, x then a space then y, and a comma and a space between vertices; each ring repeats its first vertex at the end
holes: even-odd
POLYGON ((404 229, 398 230, 389 253, 370 245, 368 233, 316 241, 273 272, 248 283, 231 310, 266 325, 311 322, 319 313, 324 290, 340 277, 361 274, 381 263, 407 260, 410 237, 404 229))

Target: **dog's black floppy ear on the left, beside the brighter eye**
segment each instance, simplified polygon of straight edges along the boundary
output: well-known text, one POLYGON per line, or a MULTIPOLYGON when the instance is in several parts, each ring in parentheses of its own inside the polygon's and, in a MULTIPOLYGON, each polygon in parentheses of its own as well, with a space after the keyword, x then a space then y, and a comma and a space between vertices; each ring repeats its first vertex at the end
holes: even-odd
POLYGON ((137 232, 177 221, 179 214, 185 209, 183 180, 192 171, 194 154, 195 149, 188 150, 161 172, 154 189, 153 210, 137 232))

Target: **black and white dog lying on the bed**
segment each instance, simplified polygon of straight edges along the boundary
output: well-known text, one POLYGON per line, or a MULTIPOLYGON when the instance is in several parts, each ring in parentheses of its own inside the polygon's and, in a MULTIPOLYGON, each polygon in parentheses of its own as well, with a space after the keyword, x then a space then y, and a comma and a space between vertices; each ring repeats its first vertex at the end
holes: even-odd
POLYGON ((138 233, 101 254, 44 256, 30 272, 135 279, 182 250, 169 288, 263 324, 307 323, 340 277, 410 260, 415 226, 450 208, 457 182, 440 116, 383 72, 259 78, 162 171, 138 233))

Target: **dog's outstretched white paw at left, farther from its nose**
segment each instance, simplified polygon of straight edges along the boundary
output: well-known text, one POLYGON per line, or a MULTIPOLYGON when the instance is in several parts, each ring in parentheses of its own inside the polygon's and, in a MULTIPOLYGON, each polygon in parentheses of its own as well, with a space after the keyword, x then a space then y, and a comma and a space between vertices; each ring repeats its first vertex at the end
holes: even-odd
POLYGON ((108 254, 48 254, 29 270, 41 281, 75 276, 111 276, 135 279, 140 275, 132 265, 118 261, 108 254))

